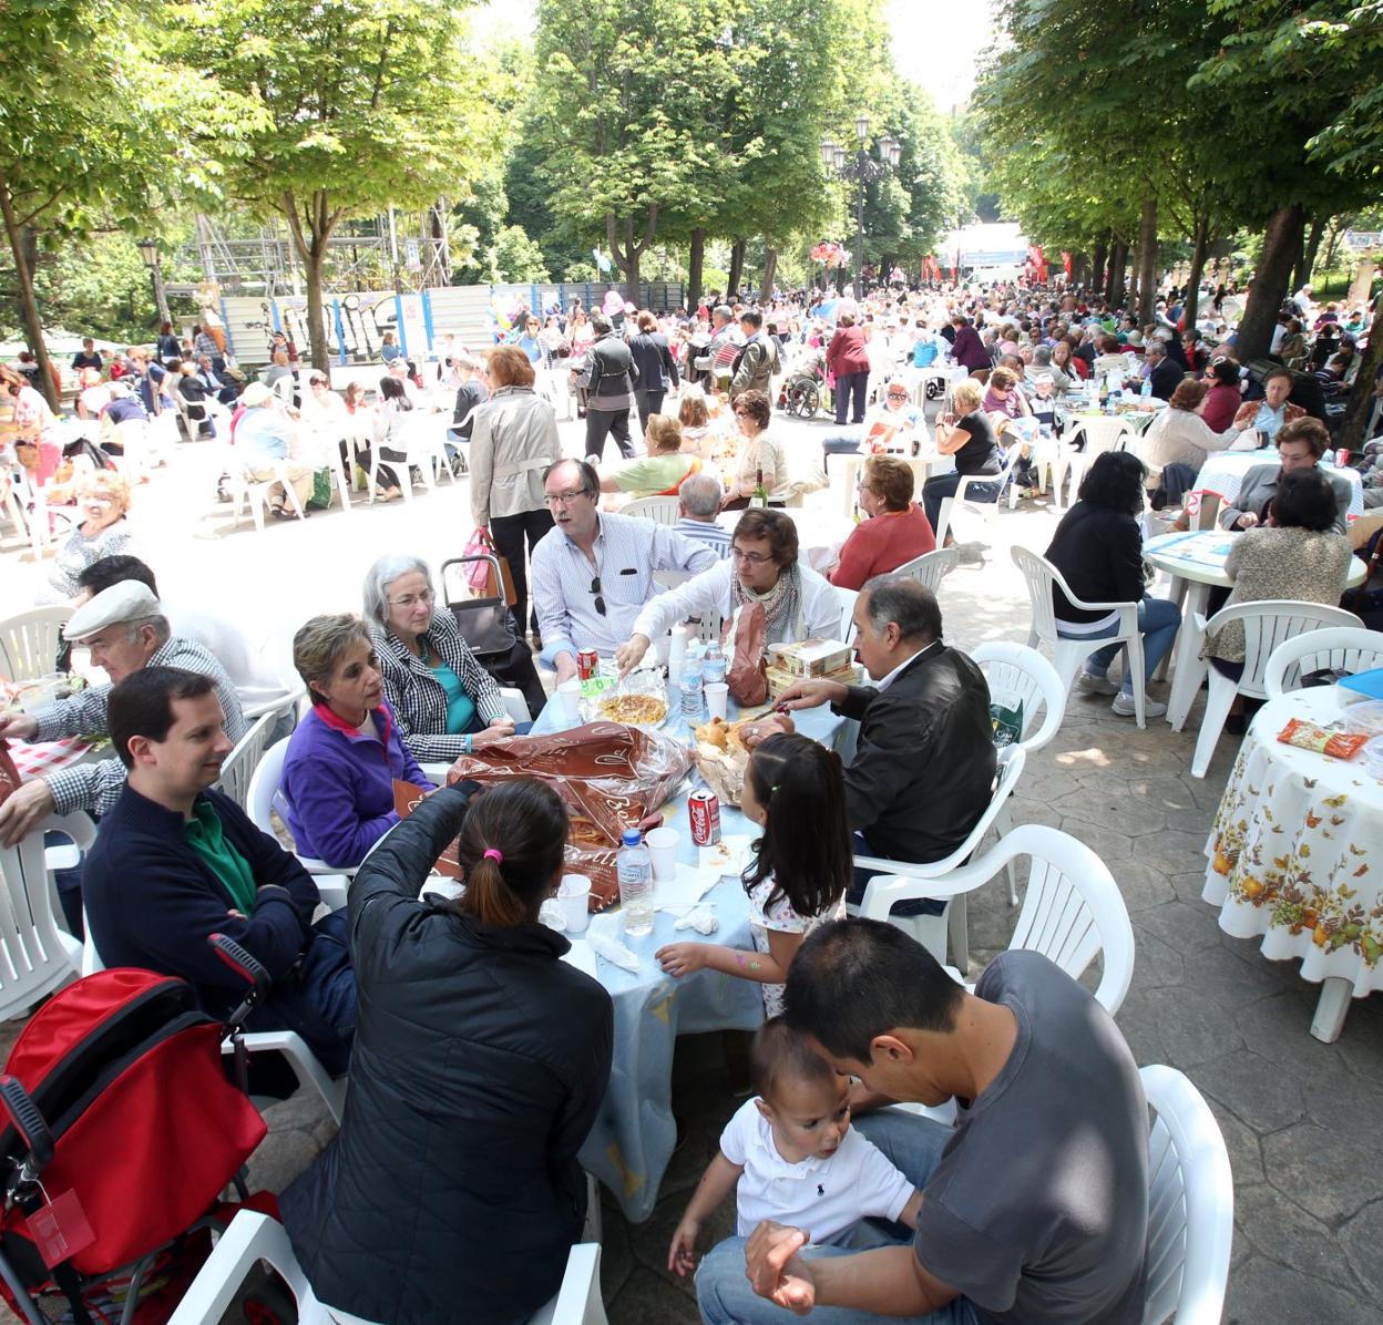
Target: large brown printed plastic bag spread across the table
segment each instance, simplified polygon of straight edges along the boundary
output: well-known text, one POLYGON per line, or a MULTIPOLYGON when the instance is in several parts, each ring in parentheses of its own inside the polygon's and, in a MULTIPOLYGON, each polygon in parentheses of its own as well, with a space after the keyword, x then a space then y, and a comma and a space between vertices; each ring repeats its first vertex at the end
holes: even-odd
MULTIPOLYGON (((456 781, 495 786, 537 777, 566 802, 571 815, 566 867, 591 878, 591 909, 620 898, 615 852, 625 828, 662 806, 692 768, 690 751, 661 732, 617 722, 589 722, 552 736, 516 736, 456 762, 456 781)), ((394 805, 407 816, 422 798, 411 783, 394 783, 394 805)), ((461 878, 456 844, 443 852, 437 871, 461 878)))

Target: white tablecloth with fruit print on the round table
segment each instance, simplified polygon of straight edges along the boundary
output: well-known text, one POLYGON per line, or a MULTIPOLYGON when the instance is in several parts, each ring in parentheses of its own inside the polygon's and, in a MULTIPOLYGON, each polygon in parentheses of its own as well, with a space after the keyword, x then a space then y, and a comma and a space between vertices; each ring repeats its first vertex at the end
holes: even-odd
POLYGON ((1333 686, 1259 711, 1210 830, 1202 896, 1227 934, 1263 935, 1265 957, 1347 979, 1358 997, 1383 989, 1383 784, 1357 759, 1278 740, 1290 718, 1342 714, 1333 686))

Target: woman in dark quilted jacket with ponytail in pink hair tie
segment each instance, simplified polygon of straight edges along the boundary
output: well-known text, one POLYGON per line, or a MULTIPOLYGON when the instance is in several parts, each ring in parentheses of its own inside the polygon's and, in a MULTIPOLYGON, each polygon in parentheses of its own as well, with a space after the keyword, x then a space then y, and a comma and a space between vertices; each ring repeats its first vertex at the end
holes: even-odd
POLYGON ((423 801, 355 875, 346 1115, 281 1202, 313 1290, 339 1311, 510 1325, 561 1284, 614 1015, 538 923, 566 838, 550 787, 466 783, 423 801), (458 830, 466 892, 419 900, 458 830))

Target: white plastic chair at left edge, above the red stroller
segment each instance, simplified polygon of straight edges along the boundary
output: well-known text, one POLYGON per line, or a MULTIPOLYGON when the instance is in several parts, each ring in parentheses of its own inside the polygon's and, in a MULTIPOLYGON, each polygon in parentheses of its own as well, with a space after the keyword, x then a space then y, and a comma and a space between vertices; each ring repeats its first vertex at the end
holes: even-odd
POLYGON ((84 815, 53 815, 15 846, 0 846, 0 1021, 22 1017, 35 1003, 76 979, 82 945, 58 928, 43 834, 90 840, 84 815))

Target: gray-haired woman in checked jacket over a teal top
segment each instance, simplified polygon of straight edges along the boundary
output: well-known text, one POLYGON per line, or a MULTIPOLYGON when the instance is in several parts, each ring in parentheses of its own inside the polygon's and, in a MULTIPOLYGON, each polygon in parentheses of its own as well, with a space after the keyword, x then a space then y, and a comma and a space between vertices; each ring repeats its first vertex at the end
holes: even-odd
POLYGON ((400 734, 419 759, 456 759, 513 736, 514 723, 451 613, 436 607, 422 557, 384 556, 365 575, 365 620, 400 734))

